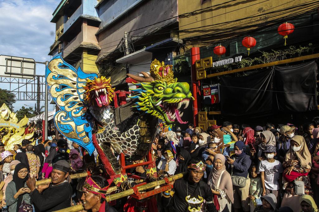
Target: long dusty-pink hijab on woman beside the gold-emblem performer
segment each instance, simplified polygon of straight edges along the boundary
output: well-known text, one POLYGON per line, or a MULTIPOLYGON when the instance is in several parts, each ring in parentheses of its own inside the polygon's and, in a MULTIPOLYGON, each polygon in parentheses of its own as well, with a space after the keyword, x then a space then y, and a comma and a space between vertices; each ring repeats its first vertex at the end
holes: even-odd
POLYGON ((233 184, 232 184, 232 178, 230 177, 230 174, 226 171, 226 166, 225 166, 225 156, 222 154, 217 154, 214 157, 213 160, 213 169, 211 170, 211 173, 209 174, 208 177, 208 185, 211 186, 211 188, 214 188, 214 185, 217 186, 218 184, 218 180, 219 180, 219 176, 222 173, 222 171, 225 170, 225 172, 223 173, 220 183, 219 183, 219 188, 221 190, 224 190, 228 196, 228 198, 230 199, 230 201, 232 203, 234 203, 234 194, 233 194, 233 184), (214 167, 215 161, 217 159, 220 159, 221 162, 223 163, 223 167, 220 170, 217 170, 214 167))

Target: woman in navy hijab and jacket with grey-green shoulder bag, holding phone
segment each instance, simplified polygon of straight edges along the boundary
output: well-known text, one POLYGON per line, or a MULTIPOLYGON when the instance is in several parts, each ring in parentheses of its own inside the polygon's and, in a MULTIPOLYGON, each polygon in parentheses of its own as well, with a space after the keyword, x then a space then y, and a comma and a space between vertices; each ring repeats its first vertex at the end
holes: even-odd
MULTIPOLYGON (((249 186, 250 178, 248 176, 249 167, 251 165, 250 157, 245 152, 245 145, 242 141, 234 144, 235 158, 227 158, 227 162, 232 167, 232 178, 241 179, 241 185, 233 184, 234 191, 234 209, 236 211, 250 211, 249 207, 249 186), (246 181, 244 181, 246 179, 246 181)), ((236 180, 235 180, 236 181, 236 180)))

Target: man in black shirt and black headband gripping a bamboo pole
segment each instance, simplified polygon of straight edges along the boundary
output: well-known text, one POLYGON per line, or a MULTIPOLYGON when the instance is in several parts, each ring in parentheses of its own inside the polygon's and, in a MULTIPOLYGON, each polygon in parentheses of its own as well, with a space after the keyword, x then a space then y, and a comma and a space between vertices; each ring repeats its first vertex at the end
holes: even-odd
POLYGON ((72 187, 67 180, 70 164, 65 160, 59 160, 53 165, 51 183, 35 188, 34 176, 26 181, 30 188, 30 197, 36 211, 56 211, 71 206, 72 187))

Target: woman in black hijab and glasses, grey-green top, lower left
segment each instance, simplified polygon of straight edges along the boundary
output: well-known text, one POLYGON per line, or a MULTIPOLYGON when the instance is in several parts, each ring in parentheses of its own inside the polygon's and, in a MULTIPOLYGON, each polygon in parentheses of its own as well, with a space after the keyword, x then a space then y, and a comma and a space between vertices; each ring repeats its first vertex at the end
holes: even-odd
POLYGON ((28 173, 29 167, 26 164, 19 163, 16 165, 13 173, 13 179, 8 184, 5 191, 6 204, 9 206, 10 212, 18 212, 22 203, 30 204, 30 189, 25 188, 28 173))

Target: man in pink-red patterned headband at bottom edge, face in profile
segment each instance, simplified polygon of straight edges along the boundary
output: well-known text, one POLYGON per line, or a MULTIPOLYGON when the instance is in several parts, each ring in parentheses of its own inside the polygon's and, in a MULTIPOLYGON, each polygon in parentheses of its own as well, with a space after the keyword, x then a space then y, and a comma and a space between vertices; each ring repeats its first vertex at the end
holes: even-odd
POLYGON ((116 210, 105 201, 109 186, 108 181, 101 176, 86 178, 81 197, 85 211, 116 212, 116 210))

